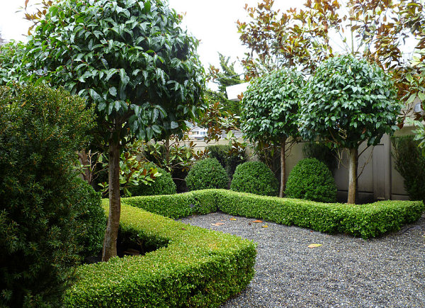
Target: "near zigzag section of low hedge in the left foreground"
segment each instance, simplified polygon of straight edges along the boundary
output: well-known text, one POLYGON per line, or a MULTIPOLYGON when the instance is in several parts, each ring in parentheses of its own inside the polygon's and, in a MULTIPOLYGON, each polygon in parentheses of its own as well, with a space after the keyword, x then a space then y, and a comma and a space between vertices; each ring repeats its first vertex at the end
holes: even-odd
POLYGON ((251 241, 175 222, 125 202, 121 216, 121 232, 162 248, 79 267, 81 279, 67 292, 65 307, 218 307, 254 276, 251 241))

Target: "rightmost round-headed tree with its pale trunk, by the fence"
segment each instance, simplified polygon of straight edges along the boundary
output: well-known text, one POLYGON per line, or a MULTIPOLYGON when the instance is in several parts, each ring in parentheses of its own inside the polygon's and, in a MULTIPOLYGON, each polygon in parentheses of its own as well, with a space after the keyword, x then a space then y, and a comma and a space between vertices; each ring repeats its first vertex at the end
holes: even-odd
POLYGON ((358 147, 376 145, 397 130, 401 105, 391 79, 375 65, 351 55, 323 62, 305 87, 300 132, 348 149, 348 203, 356 203, 358 147))

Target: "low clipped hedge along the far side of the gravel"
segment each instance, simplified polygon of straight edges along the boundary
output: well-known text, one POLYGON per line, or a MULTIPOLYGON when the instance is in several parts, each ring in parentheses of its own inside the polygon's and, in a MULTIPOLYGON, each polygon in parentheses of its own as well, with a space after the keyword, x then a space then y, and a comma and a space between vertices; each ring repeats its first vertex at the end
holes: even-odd
MULTIPOLYGON (((425 208, 421 201, 387 200, 365 205, 347 205, 220 189, 196 190, 175 196, 179 197, 179 201, 172 205, 170 203, 168 208, 162 207, 162 203, 158 199, 151 199, 152 197, 126 198, 124 202, 132 200, 132 205, 160 215, 168 215, 170 212, 206 214, 221 210, 229 215, 264 219, 330 234, 352 234, 363 239, 397 231, 404 224, 419 219, 425 208), (159 206, 154 208, 155 204, 159 206)), ((167 204, 166 199, 163 202, 167 204)), ((171 217, 183 217, 183 214, 171 217)))

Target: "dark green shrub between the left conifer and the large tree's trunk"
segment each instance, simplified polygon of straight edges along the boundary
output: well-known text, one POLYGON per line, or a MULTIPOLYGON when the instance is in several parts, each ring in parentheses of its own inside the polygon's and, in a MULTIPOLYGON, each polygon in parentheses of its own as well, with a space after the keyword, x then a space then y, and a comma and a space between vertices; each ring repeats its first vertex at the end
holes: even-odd
POLYGON ((74 200, 80 209, 77 221, 80 224, 78 244, 80 255, 96 256, 102 250, 105 236, 106 216, 101 206, 101 193, 96 191, 84 180, 77 178, 72 189, 74 200))

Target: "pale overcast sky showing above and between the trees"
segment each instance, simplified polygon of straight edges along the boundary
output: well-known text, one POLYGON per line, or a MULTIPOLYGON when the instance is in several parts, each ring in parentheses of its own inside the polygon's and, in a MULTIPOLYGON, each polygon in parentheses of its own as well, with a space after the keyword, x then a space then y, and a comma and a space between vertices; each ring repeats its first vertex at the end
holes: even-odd
MULTIPOLYGON (((218 66, 218 54, 231 56, 232 61, 244 56, 245 49, 239 41, 236 21, 246 20, 244 5, 256 5, 260 0, 169 0, 178 13, 186 13, 183 26, 200 40, 198 54, 204 65, 218 66)), ((30 0, 38 3, 39 0, 30 0)), ((289 8, 304 1, 275 0, 274 8, 289 8)), ((23 12, 16 12, 25 0, 0 0, 0 31, 6 40, 26 40, 30 23, 23 12)), ((242 73, 242 69, 239 69, 242 73)))

